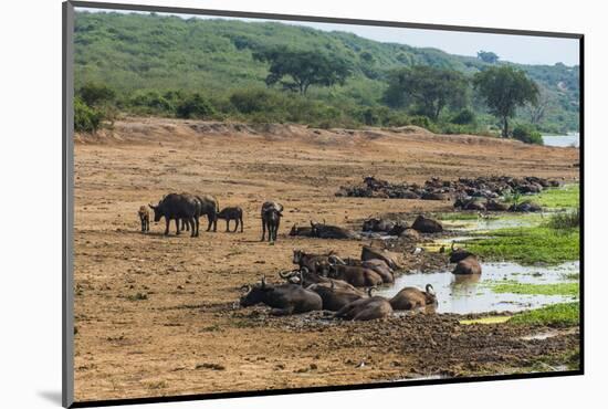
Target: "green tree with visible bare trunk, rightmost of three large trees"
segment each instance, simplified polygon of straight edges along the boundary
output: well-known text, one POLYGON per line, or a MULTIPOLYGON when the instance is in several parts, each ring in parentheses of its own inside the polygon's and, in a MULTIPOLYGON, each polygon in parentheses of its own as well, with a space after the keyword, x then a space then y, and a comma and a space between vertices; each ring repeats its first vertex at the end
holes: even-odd
POLYGON ((502 124, 503 137, 509 136, 509 118, 515 116, 517 107, 536 104, 538 86, 526 74, 511 66, 493 66, 475 74, 473 85, 502 124))

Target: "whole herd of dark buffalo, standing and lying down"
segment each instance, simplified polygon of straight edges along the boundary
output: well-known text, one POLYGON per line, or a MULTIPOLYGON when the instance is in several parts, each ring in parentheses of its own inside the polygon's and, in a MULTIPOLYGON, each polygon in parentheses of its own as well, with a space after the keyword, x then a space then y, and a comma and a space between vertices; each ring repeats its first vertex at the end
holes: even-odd
MULTIPOLYGON (((454 207, 463 210, 538 211, 537 207, 527 201, 507 207, 497 200, 497 193, 534 192, 554 185, 554 181, 538 178, 480 178, 459 179, 457 182, 431 179, 423 187, 419 187, 413 183, 390 185, 369 177, 364 180, 363 188, 343 189, 343 193, 366 197, 416 197, 426 200, 447 200, 455 195, 454 207)), ((226 221, 227 232, 243 232, 243 209, 234 206, 220 210, 219 202, 213 196, 169 193, 157 204, 150 203, 148 207, 141 206, 137 212, 144 233, 149 232, 151 216, 155 222, 165 218, 165 235, 169 234, 170 222, 174 220, 176 234, 189 231, 190 237, 198 237, 201 217, 207 217, 207 231, 216 232, 218 220, 222 219, 226 221), (234 221, 233 230, 230 230, 231 221, 234 221)), ((261 241, 276 241, 283 211, 283 204, 276 201, 262 203, 261 241)), ((384 233, 417 239, 419 233, 441 233, 443 227, 439 221, 420 214, 411 226, 403 220, 369 218, 364 221, 361 231, 363 233, 359 233, 327 224, 325 221, 311 221, 310 226, 294 224, 289 235, 360 240, 365 233, 384 233)), ((447 250, 442 247, 439 252, 445 253, 447 250)), ((368 321, 390 316, 395 311, 433 307, 438 303, 431 284, 427 284, 424 290, 406 286, 392 297, 373 295, 379 286, 394 284, 395 274, 402 269, 385 250, 371 245, 363 245, 358 259, 340 258, 333 251, 308 253, 294 250, 292 261, 296 268, 280 272, 279 277, 282 282, 271 283, 262 276, 258 283, 243 285, 240 305, 248 307, 264 304, 272 308, 273 315, 327 311, 336 318, 368 321)), ((449 249, 449 262, 454 264, 452 273, 457 276, 479 275, 482 271, 478 256, 465 249, 454 248, 453 242, 449 249)))

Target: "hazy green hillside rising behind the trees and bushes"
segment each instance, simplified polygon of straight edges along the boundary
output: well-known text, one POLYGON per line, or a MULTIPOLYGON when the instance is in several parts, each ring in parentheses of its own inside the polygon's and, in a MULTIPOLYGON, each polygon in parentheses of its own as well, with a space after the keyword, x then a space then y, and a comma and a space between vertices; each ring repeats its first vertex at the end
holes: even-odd
MULTIPOLYGON (((75 86, 78 90, 95 83, 111 87, 122 111, 134 109, 134 101, 149 97, 148 92, 168 99, 167 92, 197 92, 211 101, 216 112, 231 116, 232 93, 265 88, 268 64, 252 55, 274 45, 318 50, 348 62, 353 75, 344 85, 311 87, 306 95, 306 104, 333 108, 328 117, 336 113, 348 116, 366 107, 388 109, 382 94, 392 69, 423 64, 472 75, 490 65, 437 49, 380 43, 352 33, 300 25, 80 11, 75 23, 75 86)), ((554 133, 578 130, 578 66, 513 65, 524 70, 542 90, 547 107, 538 127, 554 133)), ((482 124, 495 123, 474 95, 471 106, 482 124)), ((449 115, 453 113, 447 112, 445 118, 449 115)), ((528 116, 522 109, 517 119, 531 122, 528 116)))

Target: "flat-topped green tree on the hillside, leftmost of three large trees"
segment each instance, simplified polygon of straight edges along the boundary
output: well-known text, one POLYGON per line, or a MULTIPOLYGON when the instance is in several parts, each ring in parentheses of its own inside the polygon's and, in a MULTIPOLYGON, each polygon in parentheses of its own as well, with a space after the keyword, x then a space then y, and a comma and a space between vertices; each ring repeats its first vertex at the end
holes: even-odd
POLYGON ((311 85, 343 85, 350 75, 349 64, 344 59, 329 56, 323 51, 279 46, 259 51, 253 57, 270 63, 266 85, 280 83, 284 90, 297 91, 300 94, 306 94, 311 85), (284 77, 290 80, 283 81, 284 77))

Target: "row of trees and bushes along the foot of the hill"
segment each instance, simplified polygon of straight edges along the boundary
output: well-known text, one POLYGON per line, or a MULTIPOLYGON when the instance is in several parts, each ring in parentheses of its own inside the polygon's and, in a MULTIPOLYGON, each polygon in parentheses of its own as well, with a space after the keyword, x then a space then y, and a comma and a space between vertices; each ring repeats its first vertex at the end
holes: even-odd
POLYGON ((515 133, 510 128, 510 120, 518 109, 534 109, 539 101, 538 85, 511 65, 488 66, 472 76, 430 65, 395 69, 386 75, 381 106, 366 107, 343 106, 339 101, 328 104, 307 97, 311 88, 344 85, 353 75, 348 62, 339 56, 322 50, 276 46, 260 49, 252 57, 268 66, 265 87, 233 91, 224 99, 211 101, 201 93, 179 90, 146 91, 120 99, 106 85, 86 83, 76 92, 75 128, 94 132, 104 119, 112 120, 117 112, 125 111, 182 118, 242 118, 327 127, 413 124, 437 132, 484 134, 484 129, 476 127, 471 108, 474 94, 483 102, 483 109, 500 122, 503 137, 525 135, 524 138, 535 143, 541 139, 531 125, 521 126, 515 133), (448 119, 444 119, 445 111, 453 113, 448 119))

